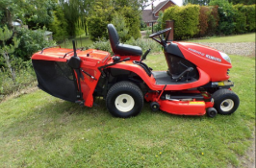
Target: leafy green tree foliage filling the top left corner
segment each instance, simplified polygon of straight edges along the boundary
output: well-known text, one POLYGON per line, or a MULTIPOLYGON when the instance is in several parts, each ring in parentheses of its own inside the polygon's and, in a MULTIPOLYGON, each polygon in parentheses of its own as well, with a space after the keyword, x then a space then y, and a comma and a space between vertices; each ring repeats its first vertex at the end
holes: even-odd
POLYGON ((12 21, 20 19, 29 28, 42 28, 52 22, 57 0, 1 0, 0 25, 12 28, 12 21))

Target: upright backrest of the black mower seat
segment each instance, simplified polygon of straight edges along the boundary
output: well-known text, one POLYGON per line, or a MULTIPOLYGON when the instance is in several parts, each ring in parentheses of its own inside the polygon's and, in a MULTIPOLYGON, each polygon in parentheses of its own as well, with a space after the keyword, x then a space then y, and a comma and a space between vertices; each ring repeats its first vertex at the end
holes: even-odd
POLYGON ((113 53, 116 52, 116 46, 119 44, 119 36, 115 30, 115 26, 113 24, 108 24, 108 32, 109 38, 111 41, 111 48, 113 53))

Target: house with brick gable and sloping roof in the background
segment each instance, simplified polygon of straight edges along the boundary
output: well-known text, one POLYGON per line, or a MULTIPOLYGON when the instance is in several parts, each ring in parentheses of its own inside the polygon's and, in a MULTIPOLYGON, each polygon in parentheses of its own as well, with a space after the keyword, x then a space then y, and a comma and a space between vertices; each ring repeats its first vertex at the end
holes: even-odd
POLYGON ((142 11, 142 20, 147 26, 152 26, 152 23, 155 23, 159 17, 159 12, 165 12, 165 10, 171 6, 176 5, 171 0, 166 0, 159 3, 154 9, 152 6, 151 10, 142 11))

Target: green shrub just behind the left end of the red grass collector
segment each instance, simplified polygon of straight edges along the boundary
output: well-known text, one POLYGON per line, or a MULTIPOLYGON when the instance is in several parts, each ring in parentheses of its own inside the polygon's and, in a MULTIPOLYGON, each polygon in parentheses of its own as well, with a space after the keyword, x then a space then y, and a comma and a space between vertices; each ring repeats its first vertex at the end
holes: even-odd
POLYGON ((22 60, 30 60, 31 56, 42 48, 55 45, 55 41, 45 39, 44 30, 32 31, 22 28, 17 30, 16 35, 20 42, 13 54, 22 60))

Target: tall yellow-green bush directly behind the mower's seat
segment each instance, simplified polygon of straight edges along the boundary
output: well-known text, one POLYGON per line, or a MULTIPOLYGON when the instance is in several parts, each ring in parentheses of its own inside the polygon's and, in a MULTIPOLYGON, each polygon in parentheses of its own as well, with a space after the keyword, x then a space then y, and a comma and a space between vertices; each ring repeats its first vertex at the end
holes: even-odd
MULTIPOLYGON (((138 0, 131 0, 131 2, 137 2, 138 0)), ((138 38, 140 33, 140 10, 139 6, 131 5, 128 0, 96 0, 88 18, 88 26, 90 30, 90 38, 97 40, 98 38, 106 37, 107 25, 113 21, 115 13, 121 15, 125 20, 128 34, 122 39, 130 39, 131 36, 138 38), (125 6, 127 5, 128 6, 125 6), (124 6, 123 6, 124 5, 124 6), (133 9, 134 8, 134 9, 133 9)), ((142 1, 138 1, 142 2, 142 1)), ((144 1, 143 1, 144 2, 144 1)))

